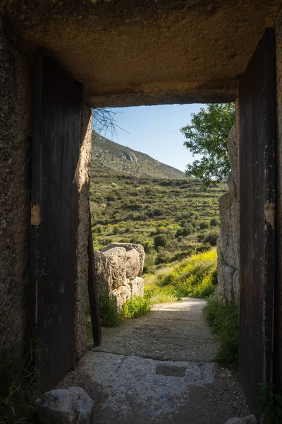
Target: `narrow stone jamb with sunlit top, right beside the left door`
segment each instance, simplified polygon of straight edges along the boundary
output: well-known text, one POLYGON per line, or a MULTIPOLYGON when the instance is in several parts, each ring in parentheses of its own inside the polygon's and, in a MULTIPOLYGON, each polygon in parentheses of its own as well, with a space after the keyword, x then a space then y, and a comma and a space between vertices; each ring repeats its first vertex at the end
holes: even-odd
POLYGON ((77 247, 77 281, 75 313, 75 356, 77 359, 87 351, 87 332, 85 310, 88 300, 88 231, 89 231, 89 189, 90 160, 92 142, 92 113, 90 107, 82 105, 81 146, 78 169, 78 247, 77 247))

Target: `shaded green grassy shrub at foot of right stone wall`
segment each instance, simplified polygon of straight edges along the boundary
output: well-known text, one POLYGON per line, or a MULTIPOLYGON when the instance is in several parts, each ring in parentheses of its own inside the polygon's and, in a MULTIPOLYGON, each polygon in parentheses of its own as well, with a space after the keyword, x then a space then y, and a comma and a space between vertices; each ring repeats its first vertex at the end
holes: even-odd
POLYGON ((238 369, 239 319, 238 305, 221 304, 210 298, 204 308, 207 322, 215 334, 219 336, 219 350, 216 362, 219 365, 238 369))

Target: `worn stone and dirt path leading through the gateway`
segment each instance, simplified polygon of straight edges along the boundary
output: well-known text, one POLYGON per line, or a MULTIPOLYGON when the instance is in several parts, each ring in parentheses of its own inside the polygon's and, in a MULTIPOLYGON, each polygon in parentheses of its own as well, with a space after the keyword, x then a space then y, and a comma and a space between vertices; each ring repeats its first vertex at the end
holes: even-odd
POLYGON ((250 413, 240 384, 213 362, 216 341, 204 300, 155 305, 147 316, 103 329, 60 387, 81 385, 94 424, 223 424, 250 413))

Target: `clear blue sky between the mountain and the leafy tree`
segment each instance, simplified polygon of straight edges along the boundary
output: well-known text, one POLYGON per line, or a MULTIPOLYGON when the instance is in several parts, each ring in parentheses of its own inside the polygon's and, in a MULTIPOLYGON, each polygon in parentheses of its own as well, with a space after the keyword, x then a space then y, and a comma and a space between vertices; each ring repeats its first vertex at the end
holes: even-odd
POLYGON ((114 108, 113 111, 117 112, 116 124, 130 134, 117 128, 117 134, 111 135, 108 132, 106 137, 184 171, 185 166, 195 158, 183 146, 185 137, 179 129, 190 123, 191 113, 199 112, 203 106, 193 104, 114 108))

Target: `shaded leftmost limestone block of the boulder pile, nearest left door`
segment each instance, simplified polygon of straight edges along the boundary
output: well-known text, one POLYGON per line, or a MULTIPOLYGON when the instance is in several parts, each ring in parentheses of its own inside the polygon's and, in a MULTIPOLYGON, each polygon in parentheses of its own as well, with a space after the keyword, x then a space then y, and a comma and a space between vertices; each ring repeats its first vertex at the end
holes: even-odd
POLYGON ((98 250, 94 250, 94 270, 98 295, 101 296, 105 291, 111 290, 113 279, 111 277, 111 262, 109 257, 98 250))

